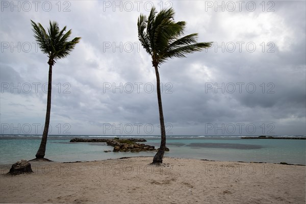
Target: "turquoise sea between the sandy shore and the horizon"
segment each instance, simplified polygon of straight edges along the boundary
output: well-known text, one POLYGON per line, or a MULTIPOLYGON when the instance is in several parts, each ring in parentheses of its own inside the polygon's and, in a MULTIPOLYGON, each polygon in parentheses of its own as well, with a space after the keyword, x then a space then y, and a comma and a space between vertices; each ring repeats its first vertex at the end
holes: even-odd
MULTIPOLYGON (((156 154, 155 151, 113 152, 106 143, 70 142, 72 138, 144 138, 145 144, 160 146, 160 136, 106 136, 106 135, 49 135, 45 158, 56 162, 99 161, 122 157, 156 154), (111 150, 105 152, 105 150, 111 150)), ((242 136, 167 136, 170 149, 164 157, 215 161, 266 162, 306 164, 306 140, 297 139, 241 139, 242 136)), ((252 136, 254 137, 254 136, 252 136)), ((303 137, 279 135, 273 137, 303 137)), ((13 164, 21 159, 35 158, 40 135, 0 135, 0 164, 13 164)))

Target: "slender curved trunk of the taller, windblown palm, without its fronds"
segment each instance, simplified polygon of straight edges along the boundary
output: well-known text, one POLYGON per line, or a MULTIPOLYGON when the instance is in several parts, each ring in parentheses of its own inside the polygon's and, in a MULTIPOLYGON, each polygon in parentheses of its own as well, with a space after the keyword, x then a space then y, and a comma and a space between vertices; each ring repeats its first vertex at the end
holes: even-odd
POLYGON ((161 86, 160 86, 160 78, 158 72, 158 66, 154 66, 156 73, 156 85, 157 85, 157 99, 158 99, 158 108, 160 115, 160 124, 161 124, 161 146, 156 155, 153 158, 152 164, 161 164, 163 163, 163 157, 165 153, 166 147, 166 131, 165 131, 165 123, 164 123, 164 114, 163 114, 163 106, 162 106, 162 96, 161 96, 161 86))

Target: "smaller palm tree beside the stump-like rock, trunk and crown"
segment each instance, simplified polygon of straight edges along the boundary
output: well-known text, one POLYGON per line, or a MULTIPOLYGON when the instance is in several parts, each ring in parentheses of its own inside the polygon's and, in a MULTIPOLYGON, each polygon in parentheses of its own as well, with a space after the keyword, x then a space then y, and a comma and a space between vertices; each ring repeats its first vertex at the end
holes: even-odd
POLYGON ((47 54, 47 63, 49 65, 46 119, 41 143, 36 153, 36 159, 44 159, 46 151, 51 110, 52 67, 56 63, 56 60, 67 57, 74 46, 79 43, 81 39, 80 37, 77 37, 71 41, 68 41, 68 38, 71 35, 71 30, 64 34, 64 31, 66 31, 66 26, 60 30, 59 24, 56 21, 50 21, 49 23, 50 28, 48 28, 48 32, 46 32, 40 23, 35 23, 33 20, 31 20, 34 37, 41 51, 44 54, 47 54))

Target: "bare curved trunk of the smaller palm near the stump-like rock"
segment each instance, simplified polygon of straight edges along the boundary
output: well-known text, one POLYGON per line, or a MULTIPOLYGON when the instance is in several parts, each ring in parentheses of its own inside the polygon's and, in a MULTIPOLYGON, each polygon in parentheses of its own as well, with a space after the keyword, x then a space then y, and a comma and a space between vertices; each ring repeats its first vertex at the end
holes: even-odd
POLYGON ((35 155, 35 157, 37 159, 44 158, 44 156, 45 156, 47 137, 48 137, 48 131, 49 131, 49 123, 50 123, 53 60, 49 60, 48 64, 49 64, 49 78, 48 78, 46 120, 45 120, 45 126, 44 126, 44 129, 43 129, 40 146, 39 146, 39 149, 38 149, 38 151, 35 155))

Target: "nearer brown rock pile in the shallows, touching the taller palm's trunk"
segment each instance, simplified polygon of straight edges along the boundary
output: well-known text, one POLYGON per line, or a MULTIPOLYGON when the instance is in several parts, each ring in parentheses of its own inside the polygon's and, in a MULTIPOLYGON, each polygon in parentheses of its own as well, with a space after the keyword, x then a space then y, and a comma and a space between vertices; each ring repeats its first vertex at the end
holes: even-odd
POLYGON ((114 147, 113 151, 153 151, 155 146, 150 146, 147 144, 136 143, 128 139, 110 139, 106 142, 108 145, 114 147))

